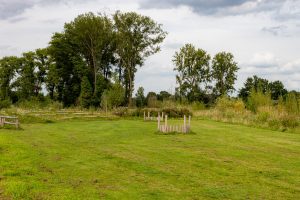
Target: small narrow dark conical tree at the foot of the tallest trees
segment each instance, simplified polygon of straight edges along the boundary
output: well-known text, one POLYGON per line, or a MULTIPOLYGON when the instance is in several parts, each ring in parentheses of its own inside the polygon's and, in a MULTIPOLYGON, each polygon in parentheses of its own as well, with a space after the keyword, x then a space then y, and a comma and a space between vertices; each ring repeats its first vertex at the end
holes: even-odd
POLYGON ((91 105, 93 89, 89 79, 84 76, 81 81, 80 105, 83 108, 88 108, 91 105))

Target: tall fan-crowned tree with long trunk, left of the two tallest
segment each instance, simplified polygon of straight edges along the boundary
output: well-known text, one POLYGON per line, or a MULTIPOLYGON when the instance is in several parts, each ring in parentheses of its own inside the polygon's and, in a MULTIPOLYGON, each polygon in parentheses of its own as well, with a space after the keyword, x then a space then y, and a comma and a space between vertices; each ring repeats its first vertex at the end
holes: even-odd
POLYGON ((106 16, 86 13, 65 24, 65 33, 84 55, 91 69, 93 95, 96 98, 98 75, 102 73, 103 77, 108 78, 111 64, 114 64, 113 24, 106 16))

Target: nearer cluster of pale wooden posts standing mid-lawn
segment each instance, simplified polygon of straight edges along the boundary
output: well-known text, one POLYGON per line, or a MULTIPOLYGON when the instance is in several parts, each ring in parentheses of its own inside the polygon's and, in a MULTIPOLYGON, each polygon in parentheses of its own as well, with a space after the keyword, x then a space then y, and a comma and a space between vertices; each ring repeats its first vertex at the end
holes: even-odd
POLYGON ((191 116, 189 116, 188 124, 186 123, 186 116, 184 115, 183 118, 183 125, 168 125, 168 115, 165 115, 164 124, 160 124, 160 116, 157 119, 157 128, 158 131, 163 133, 171 133, 171 132, 178 132, 178 133, 189 133, 191 131, 191 116))

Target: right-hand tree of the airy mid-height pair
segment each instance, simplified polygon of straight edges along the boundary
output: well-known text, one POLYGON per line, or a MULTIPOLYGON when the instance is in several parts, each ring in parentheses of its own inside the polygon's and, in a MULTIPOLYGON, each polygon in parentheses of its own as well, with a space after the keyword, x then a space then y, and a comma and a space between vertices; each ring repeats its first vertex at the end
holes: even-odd
POLYGON ((227 95, 234 90, 238 69, 231 53, 220 52, 214 56, 211 75, 216 82, 214 89, 218 96, 227 95))

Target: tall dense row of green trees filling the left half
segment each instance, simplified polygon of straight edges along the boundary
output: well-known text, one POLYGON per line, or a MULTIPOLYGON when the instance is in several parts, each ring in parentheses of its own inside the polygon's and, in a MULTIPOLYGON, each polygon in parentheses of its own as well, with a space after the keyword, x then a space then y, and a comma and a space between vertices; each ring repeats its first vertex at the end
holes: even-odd
POLYGON ((100 106, 101 99, 130 105, 138 67, 166 35, 161 24, 135 12, 79 15, 47 48, 0 60, 0 99, 41 100, 47 93, 64 106, 100 106))

